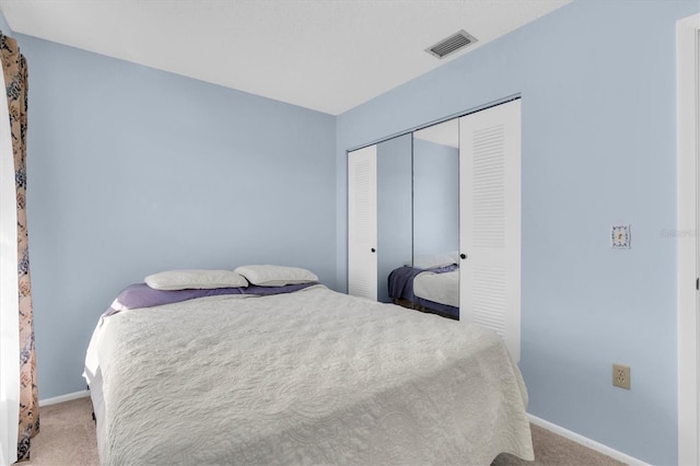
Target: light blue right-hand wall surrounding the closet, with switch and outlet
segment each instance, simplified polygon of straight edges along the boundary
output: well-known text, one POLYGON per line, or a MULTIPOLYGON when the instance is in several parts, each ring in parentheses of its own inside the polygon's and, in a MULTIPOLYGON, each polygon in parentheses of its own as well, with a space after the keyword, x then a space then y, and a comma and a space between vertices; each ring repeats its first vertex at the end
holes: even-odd
POLYGON ((676 20, 698 10, 574 1, 337 126, 342 277, 345 151, 522 95, 528 410, 652 464, 677 463, 676 244, 661 232, 676 224, 676 20), (610 248, 618 222, 629 251, 610 248), (612 363, 631 366, 631 391, 611 385, 612 363))

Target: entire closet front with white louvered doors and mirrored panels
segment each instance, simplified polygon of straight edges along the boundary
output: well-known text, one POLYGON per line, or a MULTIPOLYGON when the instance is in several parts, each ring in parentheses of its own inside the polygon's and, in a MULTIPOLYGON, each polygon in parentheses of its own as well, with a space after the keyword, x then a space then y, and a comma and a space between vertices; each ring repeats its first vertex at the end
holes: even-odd
POLYGON ((348 292, 489 327, 520 360, 520 98, 348 152, 348 292))

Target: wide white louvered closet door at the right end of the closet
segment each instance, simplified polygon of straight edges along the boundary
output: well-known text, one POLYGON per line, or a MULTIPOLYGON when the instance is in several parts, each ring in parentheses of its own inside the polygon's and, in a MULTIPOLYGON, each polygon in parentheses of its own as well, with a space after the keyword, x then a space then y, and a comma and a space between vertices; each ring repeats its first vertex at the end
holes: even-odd
POLYGON ((521 356, 521 101, 459 119, 459 319, 521 356))

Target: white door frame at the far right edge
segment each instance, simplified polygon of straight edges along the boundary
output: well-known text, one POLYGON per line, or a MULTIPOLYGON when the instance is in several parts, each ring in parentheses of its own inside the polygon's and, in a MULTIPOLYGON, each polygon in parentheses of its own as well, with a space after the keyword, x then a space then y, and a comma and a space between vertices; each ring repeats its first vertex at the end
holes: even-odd
POLYGON ((700 464, 700 14, 676 23, 678 464, 700 464))

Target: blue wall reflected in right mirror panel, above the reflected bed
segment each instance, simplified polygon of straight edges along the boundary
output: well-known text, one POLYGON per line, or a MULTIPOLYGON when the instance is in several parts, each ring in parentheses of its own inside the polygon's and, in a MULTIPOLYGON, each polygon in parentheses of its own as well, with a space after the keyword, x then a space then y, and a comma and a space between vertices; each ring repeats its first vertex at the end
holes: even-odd
POLYGON ((413 255, 459 248, 459 150, 413 140, 413 255))

